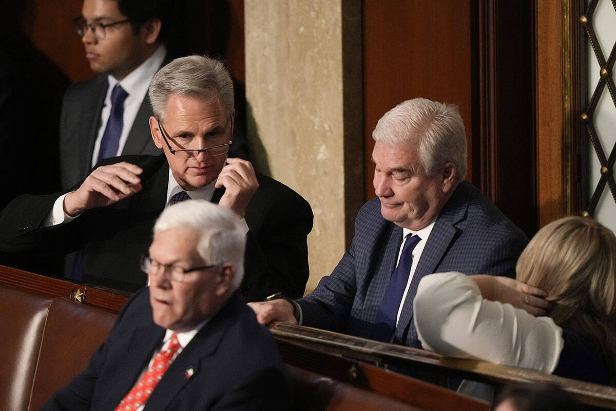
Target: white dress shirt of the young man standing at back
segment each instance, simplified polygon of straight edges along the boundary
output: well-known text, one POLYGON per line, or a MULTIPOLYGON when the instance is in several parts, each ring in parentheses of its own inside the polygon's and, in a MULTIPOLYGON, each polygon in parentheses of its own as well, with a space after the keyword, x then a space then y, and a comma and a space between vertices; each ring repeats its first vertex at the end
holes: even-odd
POLYGON ((131 73, 121 79, 121 81, 118 82, 118 80, 111 75, 107 76, 109 87, 107 88, 107 96, 105 96, 105 104, 100 111, 99 135, 94 141, 92 166, 96 165, 97 159, 99 158, 100 140, 103 139, 103 133, 105 132, 105 128, 107 128, 107 120, 109 120, 109 115, 111 113, 111 91, 113 87, 120 83, 120 86, 128 93, 128 97, 124 100, 122 134, 120 134, 120 144, 118 144, 118 152, 116 153, 116 156, 118 156, 124 149, 124 144, 126 144, 126 139, 128 139, 128 133, 132 128, 132 123, 135 122, 137 112, 139 112, 139 108, 145 99, 145 94, 148 92, 150 81, 152 81, 156 71, 158 71, 163 63, 166 53, 165 47, 161 44, 145 62, 141 63, 139 67, 131 71, 131 73))

